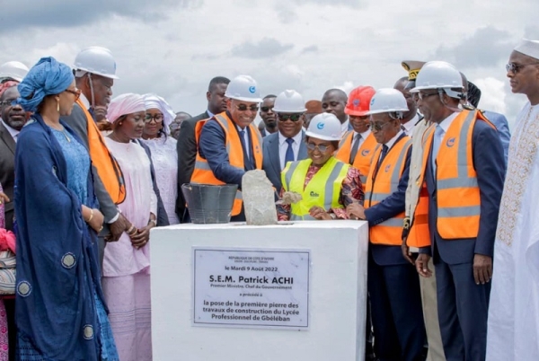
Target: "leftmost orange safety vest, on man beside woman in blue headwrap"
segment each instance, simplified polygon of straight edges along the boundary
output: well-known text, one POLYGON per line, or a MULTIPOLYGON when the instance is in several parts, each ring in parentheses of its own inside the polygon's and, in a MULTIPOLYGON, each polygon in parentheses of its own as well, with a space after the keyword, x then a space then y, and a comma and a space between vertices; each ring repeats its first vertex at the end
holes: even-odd
POLYGON ((88 147, 92 164, 99 174, 103 186, 107 189, 110 198, 114 204, 119 205, 126 199, 126 186, 124 183, 123 172, 119 168, 119 163, 114 156, 110 154, 109 148, 97 124, 93 120, 92 114, 86 109, 83 101, 79 98, 76 103, 84 111, 88 123, 88 147))

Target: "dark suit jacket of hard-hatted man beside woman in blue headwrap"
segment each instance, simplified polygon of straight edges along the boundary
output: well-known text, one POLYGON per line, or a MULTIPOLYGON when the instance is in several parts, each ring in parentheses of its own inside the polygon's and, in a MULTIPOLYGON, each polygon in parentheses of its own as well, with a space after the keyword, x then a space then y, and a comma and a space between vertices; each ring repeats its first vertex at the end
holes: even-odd
MULTIPOLYGON (((75 103, 71 115, 68 117, 62 117, 62 120, 66 122, 69 128, 75 131, 76 135, 79 136, 84 142, 84 145, 86 145, 86 149, 88 149, 88 120, 86 119, 84 110, 82 110, 81 107, 77 103, 75 103)), ((95 196, 99 201, 99 208, 102 211, 103 216, 105 217, 105 224, 108 224, 111 219, 118 215, 118 207, 116 207, 116 205, 110 198, 109 192, 107 192, 107 189, 105 189, 105 186, 103 185, 97 170, 93 166, 92 174, 95 196)), ((105 228, 108 227, 106 227, 105 225, 105 228)), ((105 231, 106 233, 108 233, 108 231, 105 229, 102 231, 102 233, 105 231)))

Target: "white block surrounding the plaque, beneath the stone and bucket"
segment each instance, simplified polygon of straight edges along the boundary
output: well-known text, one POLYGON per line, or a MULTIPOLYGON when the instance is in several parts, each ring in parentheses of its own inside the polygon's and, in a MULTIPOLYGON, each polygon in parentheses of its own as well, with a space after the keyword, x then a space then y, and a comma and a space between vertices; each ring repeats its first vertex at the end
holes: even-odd
POLYGON ((367 239, 367 223, 359 221, 174 225, 153 229, 154 360, 363 360, 367 239), (308 330, 193 326, 194 246, 310 250, 308 330))

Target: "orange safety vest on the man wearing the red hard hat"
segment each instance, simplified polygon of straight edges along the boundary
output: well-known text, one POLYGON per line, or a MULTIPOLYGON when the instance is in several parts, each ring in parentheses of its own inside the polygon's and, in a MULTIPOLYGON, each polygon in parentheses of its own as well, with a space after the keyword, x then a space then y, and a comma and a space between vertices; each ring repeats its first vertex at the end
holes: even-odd
MULTIPOLYGON (((340 162, 350 162, 350 153, 352 152, 354 134, 355 133, 353 130, 349 130, 342 137, 342 140, 340 140, 339 150, 337 151, 337 154, 335 154, 335 158, 339 159, 340 162)), ((365 185, 367 184, 367 174, 370 168, 371 160, 373 159, 373 155, 375 154, 376 146, 378 146, 378 143, 376 143, 376 138, 375 136, 373 136, 372 133, 370 133, 367 136, 367 139, 365 139, 365 141, 358 148, 358 154, 356 154, 354 163, 351 164, 354 168, 358 169, 359 172, 361 172, 360 178, 361 184, 363 186, 363 191, 365 191, 365 185)))

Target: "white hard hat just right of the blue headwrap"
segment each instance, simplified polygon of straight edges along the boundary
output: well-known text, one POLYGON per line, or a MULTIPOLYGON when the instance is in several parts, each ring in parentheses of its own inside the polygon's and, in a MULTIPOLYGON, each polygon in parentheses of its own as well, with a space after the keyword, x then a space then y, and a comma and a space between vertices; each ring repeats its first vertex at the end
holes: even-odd
POLYGON ((118 79, 118 76, 116 76, 116 61, 108 48, 84 48, 76 55, 74 67, 77 71, 77 76, 87 72, 110 79, 118 79))

